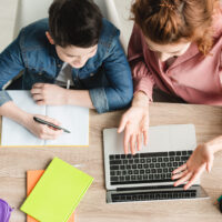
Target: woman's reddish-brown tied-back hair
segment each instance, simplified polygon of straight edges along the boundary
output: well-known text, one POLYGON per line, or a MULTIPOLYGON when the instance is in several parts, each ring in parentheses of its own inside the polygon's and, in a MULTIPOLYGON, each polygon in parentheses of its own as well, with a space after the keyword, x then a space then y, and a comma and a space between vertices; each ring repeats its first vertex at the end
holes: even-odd
POLYGON ((181 40, 196 42, 205 56, 213 44, 212 17, 219 0, 135 0, 134 22, 143 34, 160 44, 181 40))

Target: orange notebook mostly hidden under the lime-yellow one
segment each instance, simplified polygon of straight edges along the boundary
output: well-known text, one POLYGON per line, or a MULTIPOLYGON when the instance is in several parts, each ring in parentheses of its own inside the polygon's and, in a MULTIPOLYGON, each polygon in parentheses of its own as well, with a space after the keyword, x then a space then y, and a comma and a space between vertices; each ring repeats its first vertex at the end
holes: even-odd
MULTIPOLYGON (((44 173, 44 170, 29 170, 27 171, 27 195, 31 193, 39 179, 44 173)), ((27 222, 38 222, 36 219, 27 214, 27 222)), ((71 214, 68 222, 74 222, 74 213, 71 214)))

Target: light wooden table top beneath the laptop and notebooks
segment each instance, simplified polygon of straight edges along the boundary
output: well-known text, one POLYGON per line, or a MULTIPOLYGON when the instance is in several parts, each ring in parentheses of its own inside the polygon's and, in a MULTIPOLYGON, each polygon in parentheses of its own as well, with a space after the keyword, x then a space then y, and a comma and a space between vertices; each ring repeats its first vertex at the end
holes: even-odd
MULTIPOLYGON (((102 129, 118 127, 123 111, 97 114, 90 112, 89 148, 1 148, 0 198, 14 208, 10 222, 24 222, 19 206, 26 199, 27 170, 46 169, 59 157, 94 178, 92 185, 77 208, 77 222, 221 222, 222 214, 213 202, 222 194, 222 152, 216 153, 210 174, 204 173, 202 186, 209 200, 162 202, 105 203, 102 129)), ((153 103, 150 125, 194 123, 198 142, 222 133, 222 108, 153 103)))

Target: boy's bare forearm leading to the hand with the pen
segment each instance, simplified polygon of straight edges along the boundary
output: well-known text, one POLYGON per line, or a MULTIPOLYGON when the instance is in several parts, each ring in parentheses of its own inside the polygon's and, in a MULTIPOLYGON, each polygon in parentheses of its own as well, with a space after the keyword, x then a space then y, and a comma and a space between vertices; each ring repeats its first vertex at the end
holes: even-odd
POLYGON ((0 107, 0 115, 7 117, 19 124, 26 125, 30 114, 18 108, 12 101, 9 101, 0 107))

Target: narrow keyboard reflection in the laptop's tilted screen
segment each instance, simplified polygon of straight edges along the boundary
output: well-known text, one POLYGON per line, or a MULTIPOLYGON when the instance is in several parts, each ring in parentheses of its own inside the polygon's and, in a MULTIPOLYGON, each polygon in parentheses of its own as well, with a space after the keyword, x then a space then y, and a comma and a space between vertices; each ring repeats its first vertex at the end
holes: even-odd
POLYGON ((112 194, 112 202, 131 202, 131 201, 152 201, 170 199, 192 199, 196 196, 196 190, 188 191, 154 191, 139 193, 119 193, 112 194))

